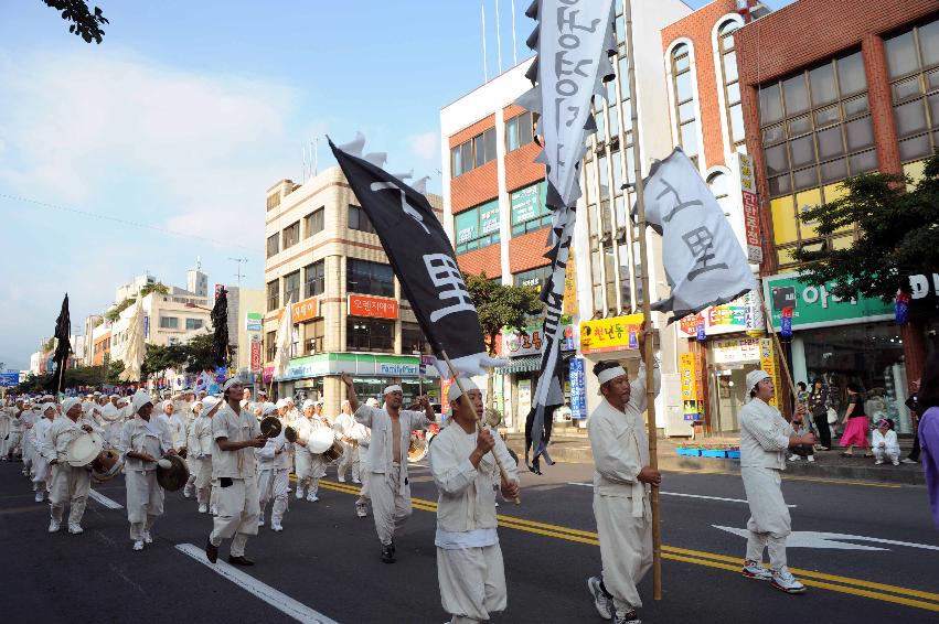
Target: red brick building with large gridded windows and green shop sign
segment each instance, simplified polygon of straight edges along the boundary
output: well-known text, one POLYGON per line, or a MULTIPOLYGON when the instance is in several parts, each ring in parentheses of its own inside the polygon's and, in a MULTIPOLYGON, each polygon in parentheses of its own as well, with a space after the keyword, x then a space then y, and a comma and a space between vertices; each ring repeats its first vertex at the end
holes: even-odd
MULTIPOLYGON (((734 35, 740 99, 764 233, 764 292, 773 323, 794 305, 791 361, 797 380, 824 377, 883 395, 900 432, 919 377, 925 335, 937 319, 894 322, 890 305, 839 301, 807 286, 792 257, 799 247, 841 248, 854 226, 821 236, 799 215, 842 196, 839 184, 872 171, 921 175, 939 147, 939 6, 800 0, 734 35)), ((928 289, 927 289, 928 290, 928 289)))

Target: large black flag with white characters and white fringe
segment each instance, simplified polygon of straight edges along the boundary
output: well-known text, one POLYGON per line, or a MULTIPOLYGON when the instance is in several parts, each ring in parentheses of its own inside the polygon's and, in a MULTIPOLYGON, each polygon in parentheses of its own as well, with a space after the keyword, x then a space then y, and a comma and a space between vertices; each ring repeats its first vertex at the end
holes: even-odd
MULTIPOLYGON (((482 375, 489 357, 479 315, 470 300, 450 239, 427 197, 371 162, 329 143, 352 191, 375 227, 415 316, 435 355, 482 375)), ((441 374, 445 369, 438 364, 441 374)))

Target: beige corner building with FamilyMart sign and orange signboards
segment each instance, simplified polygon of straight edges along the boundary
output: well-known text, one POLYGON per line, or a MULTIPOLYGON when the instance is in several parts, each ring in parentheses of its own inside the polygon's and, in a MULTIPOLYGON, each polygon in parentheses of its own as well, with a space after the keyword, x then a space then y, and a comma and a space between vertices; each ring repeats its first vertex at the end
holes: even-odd
MULTIPOLYGON (((442 212, 439 196, 428 200, 442 212)), ((353 376, 363 398, 381 397, 391 383, 403 386, 406 401, 439 391, 430 384, 433 369, 422 375, 425 338, 414 312, 338 166, 305 184, 271 186, 265 223, 265 383, 271 381, 277 330, 290 303, 294 358, 276 379, 280 396, 322 398, 334 415, 345 398, 341 373, 353 376)))

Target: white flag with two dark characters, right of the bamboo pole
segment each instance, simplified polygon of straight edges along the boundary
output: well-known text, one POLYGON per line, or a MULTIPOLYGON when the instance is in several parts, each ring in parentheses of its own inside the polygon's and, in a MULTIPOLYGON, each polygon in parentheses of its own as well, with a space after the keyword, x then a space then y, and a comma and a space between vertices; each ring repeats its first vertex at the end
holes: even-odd
POLYGON ((677 321, 756 288, 740 241, 681 148, 652 165, 644 197, 645 220, 662 235, 662 262, 672 288, 653 310, 671 311, 677 321))

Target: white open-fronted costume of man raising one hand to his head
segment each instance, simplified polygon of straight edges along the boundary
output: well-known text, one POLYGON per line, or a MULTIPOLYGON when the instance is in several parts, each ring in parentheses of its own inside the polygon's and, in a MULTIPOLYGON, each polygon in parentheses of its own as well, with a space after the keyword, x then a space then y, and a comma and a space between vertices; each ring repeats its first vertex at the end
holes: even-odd
POLYGON ((410 484, 407 480, 410 432, 427 429, 430 421, 423 411, 401 410, 401 456, 394 458, 394 424, 387 411, 362 404, 355 410, 355 420, 372 429, 366 459, 370 472, 369 495, 378 540, 383 546, 387 546, 412 513, 410 484))

